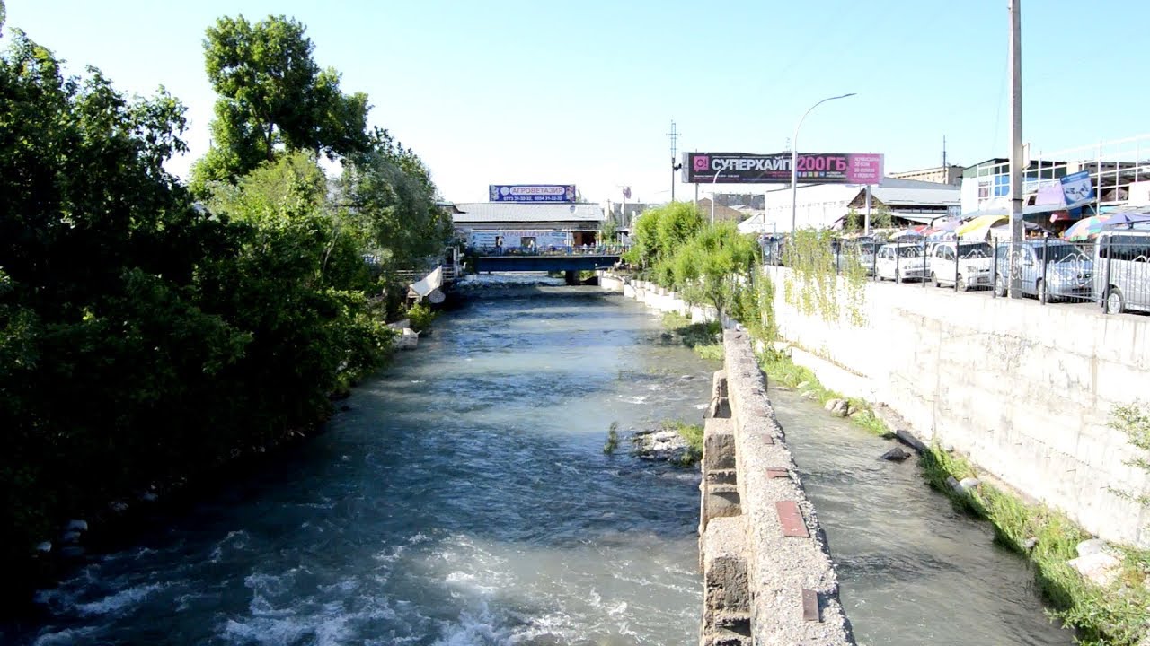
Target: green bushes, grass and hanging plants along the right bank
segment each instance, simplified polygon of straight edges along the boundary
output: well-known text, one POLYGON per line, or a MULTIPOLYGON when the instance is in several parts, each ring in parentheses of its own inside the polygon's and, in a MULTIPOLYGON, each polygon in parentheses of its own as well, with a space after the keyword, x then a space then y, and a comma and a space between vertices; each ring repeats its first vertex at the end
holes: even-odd
MULTIPOLYGON (((692 208, 689 203, 673 205, 658 210, 651 220, 644 222, 641 217, 637 221, 636 245, 627 260, 641 268, 641 277, 676 291, 693 287, 696 302, 716 308, 724 306, 721 310, 752 334, 759 348, 760 366, 772 383, 800 390, 822 403, 846 399, 822 386, 813 371, 795 364, 787 354, 775 348, 775 341, 780 340, 773 308, 775 287, 765 276, 743 274, 736 266, 728 280, 712 282, 727 290, 723 298, 714 300, 707 298, 707 291, 699 289, 698 283, 689 285, 682 280, 690 274, 676 276, 676 259, 688 257, 681 254, 689 246, 699 249, 698 243, 692 240, 698 232, 708 229, 697 217, 698 214, 691 213, 692 208)), ((784 300, 807 315, 852 325, 865 324, 865 276, 861 268, 836 267, 828 241, 819 233, 799 232, 797 238, 798 268, 783 285, 784 300)), ((691 257, 699 268, 721 266, 705 262, 698 255, 691 257)), ((678 318, 674 315, 667 316, 665 325, 678 329, 684 326, 684 322, 689 323, 685 317, 678 318)), ((877 434, 890 434, 890 429, 874 414, 868 402, 858 399, 846 401, 850 409, 858 412, 850 417, 853 423, 877 434)), ((1150 408, 1137 403, 1120 407, 1114 412, 1111 425, 1122 430, 1130 445, 1141 452, 1128 463, 1150 470, 1150 461, 1145 459, 1145 452, 1150 451, 1150 408)), ((1111 546, 1109 549, 1120 560, 1120 571, 1111 585, 1096 585, 1068 564, 1068 561, 1080 556, 1078 545, 1090 537, 1065 515, 1027 502, 1015 492, 984 482, 968 490, 956 489, 953 483, 975 477, 976 470, 961 456, 937 446, 920 456, 920 467, 931 486, 951 497, 959 508, 989 521, 997 540, 1033 564, 1036 583, 1052 607, 1051 616, 1074 629, 1080 643, 1094 646, 1144 645, 1145 636, 1150 635, 1150 552, 1111 546)), ((1128 497, 1143 505, 1150 502, 1144 495, 1128 497)))

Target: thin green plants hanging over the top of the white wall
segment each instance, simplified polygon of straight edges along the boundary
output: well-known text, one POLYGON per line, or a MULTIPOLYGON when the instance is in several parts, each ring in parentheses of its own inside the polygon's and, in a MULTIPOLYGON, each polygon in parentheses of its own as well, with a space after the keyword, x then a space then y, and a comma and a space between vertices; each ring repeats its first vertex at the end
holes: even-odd
POLYGON ((791 268, 783 283, 787 302, 804 316, 828 323, 866 323, 866 269, 851 254, 835 253, 830 231, 804 229, 795 232, 788 253, 791 268))

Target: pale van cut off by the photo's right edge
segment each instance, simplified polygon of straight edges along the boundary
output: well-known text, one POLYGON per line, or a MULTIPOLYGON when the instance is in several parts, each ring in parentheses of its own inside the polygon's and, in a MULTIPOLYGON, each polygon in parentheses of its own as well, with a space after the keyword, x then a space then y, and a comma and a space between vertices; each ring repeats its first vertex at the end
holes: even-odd
POLYGON ((1094 298, 1104 312, 1150 312, 1150 230, 1103 231, 1094 249, 1094 298))

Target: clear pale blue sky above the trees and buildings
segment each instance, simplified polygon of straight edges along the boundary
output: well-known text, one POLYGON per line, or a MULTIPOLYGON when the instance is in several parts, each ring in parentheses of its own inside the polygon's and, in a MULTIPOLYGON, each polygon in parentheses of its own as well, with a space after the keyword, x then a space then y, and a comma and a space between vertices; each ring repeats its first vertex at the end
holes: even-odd
MULTIPOLYGON (((370 121, 431 168, 444 197, 488 184, 575 183, 593 201, 666 201, 680 151, 875 152, 887 170, 972 164, 1007 149, 1006 0, 619 2, 538 0, 160 2, 8 0, 23 29, 128 93, 164 85, 189 108, 192 154, 215 97, 204 30, 218 16, 293 16, 315 59, 365 91, 370 121)), ((1022 5, 1023 136, 1059 151, 1141 134, 1150 2, 1022 5)), ((3 40, 0 40, 2 44, 3 40)), ((693 194, 678 185, 677 197, 693 194)), ((704 193, 706 190, 703 191, 704 193)))

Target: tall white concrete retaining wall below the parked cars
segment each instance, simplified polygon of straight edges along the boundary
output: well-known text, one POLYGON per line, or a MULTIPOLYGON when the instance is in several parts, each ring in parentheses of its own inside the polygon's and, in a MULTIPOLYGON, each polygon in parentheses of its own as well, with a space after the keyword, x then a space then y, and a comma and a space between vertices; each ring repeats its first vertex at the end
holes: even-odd
POLYGON ((784 298, 790 270, 765 271, 781 336, 853 372, 844 394, 885 402, 1091 533, 1150 546, 1150 510, 1116 493, 1150 492, 1150 477, 1107 426, 1114 406, 1150 400, 1150 318, 869 283, 866 323, 852 326, 798 312, 784 298))

